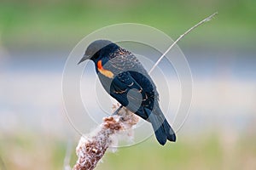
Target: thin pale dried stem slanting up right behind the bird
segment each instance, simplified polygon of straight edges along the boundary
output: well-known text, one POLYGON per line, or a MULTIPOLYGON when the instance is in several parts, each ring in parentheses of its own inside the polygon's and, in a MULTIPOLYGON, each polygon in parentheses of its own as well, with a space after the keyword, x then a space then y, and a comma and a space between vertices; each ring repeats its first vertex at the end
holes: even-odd
POLYGON ((185 31, 185 33, 183 33, 183 35, 181 35, 180 37, 177 38, 177 40, 175 42, 172 43, 172 45, 166 50, 166 52, 164 54, 162 54, 160 56, 160 58, 155 62, 154 66, 150 69, 150 71, 148 71, 148 74, 150 74, 152 71, 154 71, 154 68, 159 65, 160 60, 163 59, 165 57, 165 55, 173 48, 173 46, 179 41, 181 40, 184 36, 186 36, 187 34, 189 34, 190 31, 194 30, 197 26, 201 26, 202 24, 204 24, 207 21, 212 20, 212 18, 218 14, 218 12, 208 16, 206 19, 201 20, 199 23, 197 23, 195 26, 192 26, 191 28, 189 28, 188 31, 185 31))

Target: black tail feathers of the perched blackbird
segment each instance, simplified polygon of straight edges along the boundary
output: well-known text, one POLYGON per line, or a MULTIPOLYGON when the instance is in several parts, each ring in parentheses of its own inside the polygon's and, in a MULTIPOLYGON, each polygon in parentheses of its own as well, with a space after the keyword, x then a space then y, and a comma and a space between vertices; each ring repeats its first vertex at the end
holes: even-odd
POLYGON ((160 109, 157 108, 155 111, 150 111, 149 109, 145 108, 145 111, 148 115, 148 121, 151 122, 153 126, 154 134, 158 142, 162 145, 166 144, 167 139, 175 142, 176 135, 160 109))

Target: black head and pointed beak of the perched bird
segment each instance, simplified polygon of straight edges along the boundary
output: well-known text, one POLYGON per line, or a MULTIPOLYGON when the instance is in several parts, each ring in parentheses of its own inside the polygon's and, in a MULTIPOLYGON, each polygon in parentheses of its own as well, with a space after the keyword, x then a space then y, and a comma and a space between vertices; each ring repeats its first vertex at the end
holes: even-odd
POLYGON ((82 59, 80 59, 78 65, 86 59, 91 59, 93 61, 96 61, 96 59, 100 57, 100 51, 102 50, 102 48, 104 48, 108 53, 108 49, 106 48, 109 48, 109 49, 112 49, 112 48, 106 47, 106 46, 117 46, 117 45, 108 40, 96 40, 94 42, 91 42, 90 45, 86 48, 84 56, 82 59))

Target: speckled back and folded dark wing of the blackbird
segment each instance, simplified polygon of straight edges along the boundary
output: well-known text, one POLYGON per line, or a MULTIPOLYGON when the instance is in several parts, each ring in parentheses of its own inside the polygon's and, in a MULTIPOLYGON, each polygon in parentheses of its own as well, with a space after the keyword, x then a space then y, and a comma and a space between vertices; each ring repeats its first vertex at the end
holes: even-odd
POLYGON ((125 49, 119 49, 112 54, 105 69, 113 71, 115 77, 111 83, 110 94, 121 105, 135 111, 138 105, 149 106, 158 99, 154 82, 134 54, 125 49))

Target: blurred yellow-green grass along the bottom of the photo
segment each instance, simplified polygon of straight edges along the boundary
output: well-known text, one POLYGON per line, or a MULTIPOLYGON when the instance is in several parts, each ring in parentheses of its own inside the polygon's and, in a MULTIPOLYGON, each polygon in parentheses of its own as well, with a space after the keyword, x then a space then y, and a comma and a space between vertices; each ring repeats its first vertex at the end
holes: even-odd
MULTIPOLYGON (((98 170, 113 169, 255 169, 256 138, 224 139, 216 133, 179 136, 164 147, 154 138, 142 144, 107 153, 98 170)), ((0 151, 8 169, 61 169, 66 141, 18 135, 1 140, 0 151)), ((73 155, 72 162, 76 160, 73 155)))

